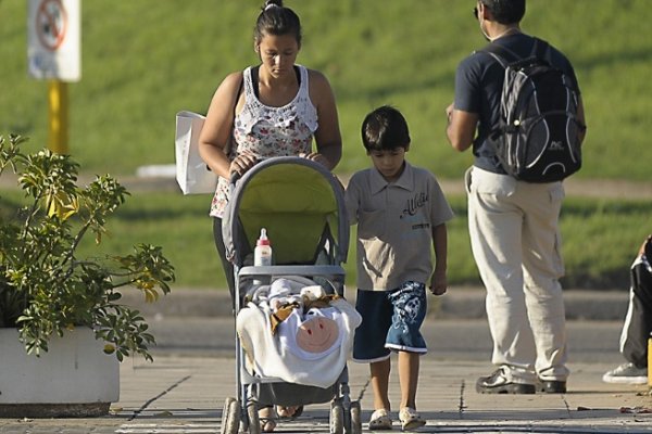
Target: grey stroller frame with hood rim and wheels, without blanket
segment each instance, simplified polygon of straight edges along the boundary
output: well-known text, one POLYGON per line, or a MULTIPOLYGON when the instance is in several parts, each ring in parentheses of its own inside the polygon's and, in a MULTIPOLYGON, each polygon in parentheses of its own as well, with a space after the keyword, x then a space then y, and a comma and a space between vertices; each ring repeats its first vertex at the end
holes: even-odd
MULTIPOLYGON (((279 168, 277 168, 279 169, 279 168)), ((279 169, 280 170, 280 169, 279 169)), ((288 179, 291 182, 291 179, 288 179)), ((308 183, 299 186, 292 183, 292 188, 308 188, 308 183)), ((261 187, 264 189, 265 187, 261 187)), ((318 163, 300 157, 274 157, 256 164, 243 177, 238 179, 231 177, 230 202, 223 220, 223 233, 227 256, 234 264, 235 277, 235 308, 234 316, 237 316, 240 309, 246 305, 247 288, 256 280, 262 284, 269 284, 276 277, 302 276, 310 277, 319 281, 319 283, 330 293, 342 296, 344 293, 346 272, 341 266, 347 258, 349 244, 349 225, 347 221, 346 206, 343 203, 343 189, 339 180, 318 163), (284 264, 273 266, 251 266, 246 264, 246 255, 242 251, 251 247, 249 245, 238 248, 237 239, 250 239, 246 230, 242 229, 240 219, 241 195, 247 193, 248 184, 267 169, 274 170, 275 166, 292 165, 293 169, 314 171, 315 176, 325 181, 334 195, 337 214, 337 233, 333 233, 326 222, 326 230, 319 237, 319 245, 315 248, 317 252, 314 259, 326 264, 284 264), (340 221, 342 220, 342 221, 340 221), (322 283, 324 282, 324 283, 322 283)), ((309 192, 312 194, 313 192, 309 192)), ((255 228, 259 230, 259 228, 255 228)), ((271 233, 272 245, 275 248, 274 233, 271 233)), ((314 238, 313 238, 314 239, 314 238)), ((251 248, 250 248, 251 250, 251 248)), ((274 251, 276 254, 276 250, 274 251)), ((304 258, 305 259, 305 258, 304 258)), ((287 261, 287 258, 286 258, 287 261)), ((239 337, 236 335, 236 393, 237 397, 228 397, 225 400, 222 413, 222 434, 250 433, 259 434, 261 432, 260 418, 258 410, 262 405, 281 405, 281 406, 302 406, 308 404, 330 403, 329 411, 329 432, 331 434, 358 434, 362 432, 361 406, 358 400, 351 400, 348 367, 344 365, 342 372, 335 384, 322 388, 317 386, 294 384, 285 382, 278 378, 262 376, 249 372, 244 362, 246 354, 239 337)))

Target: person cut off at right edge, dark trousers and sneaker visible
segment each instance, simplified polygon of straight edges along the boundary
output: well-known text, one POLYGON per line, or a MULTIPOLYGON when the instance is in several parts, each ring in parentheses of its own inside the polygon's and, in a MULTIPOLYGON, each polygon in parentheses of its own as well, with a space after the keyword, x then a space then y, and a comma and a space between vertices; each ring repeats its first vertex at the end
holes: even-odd
POLYGON ((648 340, 652 337, 652 235, 649 235, 629 270, 629 306, 620 334, 620 354, 627 362, 606 372, 606 383, 648 383, 648 340))

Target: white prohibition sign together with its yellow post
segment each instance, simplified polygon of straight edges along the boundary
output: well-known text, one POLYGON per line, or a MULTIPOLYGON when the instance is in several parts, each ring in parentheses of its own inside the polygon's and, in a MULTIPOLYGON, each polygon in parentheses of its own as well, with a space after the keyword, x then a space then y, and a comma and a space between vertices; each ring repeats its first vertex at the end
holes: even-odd
POLYGON ((79 0, 29 0, 28 8, 29 75, 48 80, 49 148, 67 153, 67 82, 82 77, 79 0))

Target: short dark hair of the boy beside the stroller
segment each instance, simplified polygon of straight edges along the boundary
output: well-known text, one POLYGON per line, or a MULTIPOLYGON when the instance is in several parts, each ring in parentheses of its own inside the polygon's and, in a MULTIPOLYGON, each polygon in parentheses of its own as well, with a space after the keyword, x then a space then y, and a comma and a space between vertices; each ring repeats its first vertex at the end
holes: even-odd
POLYGON ((362 122, 362 144, 371 151, 410 146, 408 122, 397 108, 384 105, 366 115, 362 122))

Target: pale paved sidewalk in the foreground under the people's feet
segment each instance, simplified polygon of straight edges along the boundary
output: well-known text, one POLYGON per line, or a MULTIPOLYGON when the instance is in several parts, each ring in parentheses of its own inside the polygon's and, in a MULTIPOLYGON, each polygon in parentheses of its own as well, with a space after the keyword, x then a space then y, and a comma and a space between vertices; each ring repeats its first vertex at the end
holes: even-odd
MULTIPOLYGON (((396 359, 394 359, 396 361, 396 359)), ((647 386, 604 384, 611 366, 575 363, 564 395, 481 395, 474 390, 486 362, 422 360, 417 405, 427 418, 422 433, 650 433, 647 386), (647 412, 648 411, 648 412, 647 412)), ((156 357, 122 363, 122 393, 111 414, 95 419, 0 419, 0 433, 220 433, 222 407, 235 397, 233 358, 156 357)), ((362 406, 363 431, 373 410, 367 367, 349 363, 351 397, 362 406), (362 397, 361 397, 362 396, 362 397)), ((390 397, 399 401, 392 375, 390 397)), ((396 414, 392 414, 397 419, 396 414)), ((400 431, 394 422, 393 431, 400 431)), ((328 405, 308 406, 278 433, 328 433, 328 405)))

